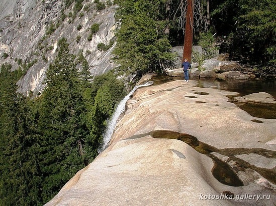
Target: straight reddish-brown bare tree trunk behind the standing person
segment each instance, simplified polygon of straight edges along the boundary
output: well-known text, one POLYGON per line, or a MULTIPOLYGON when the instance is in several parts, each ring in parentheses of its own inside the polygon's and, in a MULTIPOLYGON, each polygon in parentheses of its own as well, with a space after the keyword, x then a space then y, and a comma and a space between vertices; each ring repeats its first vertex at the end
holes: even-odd
POLYGON ((193 47, 193 35, 194 35, 194 8, 195 8, 194 5, 195 5, 195 0, 188 0, 182 62, 184 62, 184 59, 187 59, 189 62, 191 62, 192 60, 192 47, 193 47))

